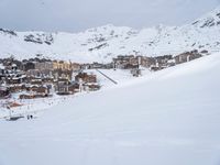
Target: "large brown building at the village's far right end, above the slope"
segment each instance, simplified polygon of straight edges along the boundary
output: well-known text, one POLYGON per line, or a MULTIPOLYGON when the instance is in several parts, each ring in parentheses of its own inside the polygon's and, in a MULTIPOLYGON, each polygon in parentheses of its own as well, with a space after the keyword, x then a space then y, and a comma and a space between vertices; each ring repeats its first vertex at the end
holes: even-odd
POLYGON ((183 54, 175 56, 174 58, 175 58, 176 64, 182 64, 182 63, 190 62, 200 57, 201 57, 201 54, 198 53, 198 51, 196 50, 191 52, 185 52, 183 54))

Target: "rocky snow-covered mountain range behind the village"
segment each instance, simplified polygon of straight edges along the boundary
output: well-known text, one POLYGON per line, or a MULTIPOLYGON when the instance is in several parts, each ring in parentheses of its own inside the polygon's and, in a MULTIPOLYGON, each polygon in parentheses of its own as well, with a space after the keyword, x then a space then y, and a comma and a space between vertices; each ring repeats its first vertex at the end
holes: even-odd
POLYGON ((220 7, 191 24, 133 30, 105 25, 81 33, 14 32, 0 29, 0 55, 18 58, 42 55, 75 62, 108 62, 117 55, 178 54, 220 50, 220 7))

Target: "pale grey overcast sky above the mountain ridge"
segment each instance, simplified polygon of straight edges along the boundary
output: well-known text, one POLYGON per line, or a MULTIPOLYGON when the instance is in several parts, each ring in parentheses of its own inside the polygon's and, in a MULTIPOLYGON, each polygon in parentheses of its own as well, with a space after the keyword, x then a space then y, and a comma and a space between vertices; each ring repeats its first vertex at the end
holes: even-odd
POLYGON ((114 24, 135 29, 180 25, 220 0, 0 0, 0 28, 79 32, 114 24))

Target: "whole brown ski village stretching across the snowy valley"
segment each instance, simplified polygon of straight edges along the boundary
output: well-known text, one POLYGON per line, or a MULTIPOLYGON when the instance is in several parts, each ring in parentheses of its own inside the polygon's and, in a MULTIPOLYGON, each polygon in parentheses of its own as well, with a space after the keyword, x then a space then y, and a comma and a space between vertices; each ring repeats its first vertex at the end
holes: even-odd
POLYGON ((23 61, 13 57, 2 58, 0 59, 0 109, 11 111, 25 106, 31 109, 30 100, 43 99, 51 105, 56 102, 57 98, 61 100, 82 92, 97 91, 102 87, 97 73, 112 84, 118 84, 102 70, 127 70, 132 77, 139 77, 144 69, 157 72, 204 55, 208 55, 208 52, 195 50, 176 56, 157 57, 119 55, 108 64, 97 62, 79 64, 37 57, 23 61), (89 70, 97 72, 94 74, 89 70))

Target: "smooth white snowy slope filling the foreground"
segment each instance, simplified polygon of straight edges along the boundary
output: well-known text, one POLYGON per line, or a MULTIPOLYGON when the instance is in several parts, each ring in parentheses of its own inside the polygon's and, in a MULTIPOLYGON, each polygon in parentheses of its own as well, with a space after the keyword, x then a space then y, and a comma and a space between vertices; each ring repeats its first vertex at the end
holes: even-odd
POLYGON ((0 122, 1 165, 218 165, 220 54, 0 122))

